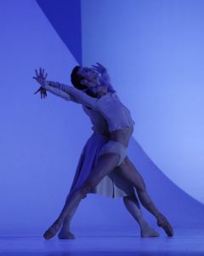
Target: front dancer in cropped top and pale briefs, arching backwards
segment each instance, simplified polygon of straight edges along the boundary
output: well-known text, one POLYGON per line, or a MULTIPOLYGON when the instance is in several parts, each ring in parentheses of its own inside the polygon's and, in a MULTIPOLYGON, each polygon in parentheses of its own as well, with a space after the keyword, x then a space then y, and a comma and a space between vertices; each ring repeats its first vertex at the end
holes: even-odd
MULTIPOLYGON (((78 69, 78 77, 82 76, 84 73, 88 73, 86 68, 79 67, 78 69)), ((167 218, 165 218, 161 212, 158 212, 153 202, 150 201, 144 183, 138 183, 138 173, 134 172, 135 170, 132 163, 126 158, 127 144, 133 133, 133 119, 131 119, 128 109, 119 101, 116 93, 108 93, 107 88, 105 89, 105 86, 101 86, 98 83, 99 79, 95 81, 94 79, 89 79, 86 81, 86 85, 89 88, 93 88, 95 91, 98 90, 98 95, 100 95, 99 99, 95 99, 87 96, 81 90, 76 90, 65 84, 55 83, 48 85, 46 83, 46 77, 47 75, 43 77, 43 71, 40 70, 40 75, 37 73, 37 77, 34 79, 37 79, 46 90, 50 90, 53 93, 55 93, 54 90, 56 89, 62 90, 61 92, 64 91, 66 96, 70 97, 70 100, 85 104, 89 108, 95 108, 103 114, 108 122, 110 140, 100 151, 98 165, 94 167, 94 170, 89 175, 86 183, 82 184, 80 189, 74 191, 65 202, 65 207, 60 213, 59 218, 57 218, 54 224, 45 232, 45 238, 51 238, 56 234, 65 220, 65 217, 69 213, 71 214, 71 211, 77 207, 82 197, 94 188, 99 181, 116 166, 120 166, 120 173, 133 183, 138 191, 140 201, 143 203, 144 207, 157 218, 157 224, 166 230, 168 236, 173 236, 173 229, 167 222, 167 218), (96 88, 96 85, 98 85, 98 88, 96 88)), ((84 81, 82 81, 82 83, 84 83, 84 81)))

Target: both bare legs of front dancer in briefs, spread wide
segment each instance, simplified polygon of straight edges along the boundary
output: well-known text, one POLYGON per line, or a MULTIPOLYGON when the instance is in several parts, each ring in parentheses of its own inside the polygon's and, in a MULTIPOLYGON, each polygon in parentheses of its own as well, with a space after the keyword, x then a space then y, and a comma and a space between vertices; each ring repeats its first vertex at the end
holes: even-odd
MULTIPOLYGON (((105 175, 116 167, 118 160, 118 154, 104 154, 99 158, 98 165, 95 166, 93 173, 90 174, 87 182, 82 185, 81 189, 74 192, 69 200, 65 202, 65 207, 59 214, 59 218, 57 218, 54 224, 52 224, 52 226, 44 233, 44 237, 46 239, 53 237, 59 231, 65 218, 69 216, 69 212, 73 212, 74 209, 77 209, 82 197, 87 195, 87 193, 94 188, 100 182, 100 180, 105 177, 105 175)), ((173 236, 173 229, 171 225, 167 222, 167 219, 161 215, 161 213, 154 206, 153 202, 150 200, 150 196, 147 194, 145 189, 144 181, 139 173, 135 172, 136 169, 133 168, 133 164, 126 159, 120 166, 119 170, 119 173, 121 173, 122 176, 126 177, 127 180, 133 183, 139 193, 139 200, 142 202, 144 207, 146 207, 157 218, 157 224, 164 228, 168 236, 173 236)))

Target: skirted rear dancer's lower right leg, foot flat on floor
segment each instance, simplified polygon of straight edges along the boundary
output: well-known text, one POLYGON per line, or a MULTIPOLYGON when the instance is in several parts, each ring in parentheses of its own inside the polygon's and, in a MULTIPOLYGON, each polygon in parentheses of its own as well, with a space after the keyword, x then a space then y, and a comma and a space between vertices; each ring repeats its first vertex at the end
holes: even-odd
POLYGON ((127 195, 123 197, 123 202, 127 211, 131 213, 133 218, 138 222, 140 228, 140 236, 157 237, 160 236, 156 230, 153 230, 146 222, 139 207, 139 201, 135 195, 127 195))

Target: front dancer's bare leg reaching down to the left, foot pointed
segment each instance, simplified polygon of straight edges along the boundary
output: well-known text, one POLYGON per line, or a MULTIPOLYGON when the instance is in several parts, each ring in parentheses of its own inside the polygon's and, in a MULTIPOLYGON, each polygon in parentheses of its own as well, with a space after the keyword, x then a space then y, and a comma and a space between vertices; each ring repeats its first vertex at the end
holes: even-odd
POLYGON ((91 191, 105 175, 111 172, 117 165, 120 156, 118 154, 103 154, 99 157, 98 164, 94 167, 93 172, 89 175, 87 181, 82 185, 80 189, 77 189, 68 197, 65 201, 65 206, 59 214, 59 218, 54 221, 49 229, 44 233, 45 239, 52 238, 60 229, 65 218, 69 214, 73 214, 76 211, 82 198, 91 191))

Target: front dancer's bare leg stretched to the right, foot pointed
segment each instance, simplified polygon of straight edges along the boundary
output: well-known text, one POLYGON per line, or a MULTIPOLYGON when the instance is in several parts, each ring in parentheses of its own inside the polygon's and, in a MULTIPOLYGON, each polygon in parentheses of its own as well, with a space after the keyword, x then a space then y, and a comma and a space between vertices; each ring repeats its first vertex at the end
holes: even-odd
POLYGON ((133 186, 139 195, 139 201, 142 203, 142 205, 156 217, 157 224, 166 231, 167 235, 173 236, 172 226, 168 223, 167 218, 165 218, 161 212, 159 212, 153 201, 151 201, 150 195, 147 193, 143 177, 141 177, 128 157, 126 157, 122 162, 122 165, 117 168, 117 172, 122 177, 125 177, 128 181, 133 183, 133 186))

